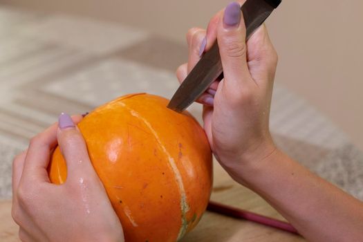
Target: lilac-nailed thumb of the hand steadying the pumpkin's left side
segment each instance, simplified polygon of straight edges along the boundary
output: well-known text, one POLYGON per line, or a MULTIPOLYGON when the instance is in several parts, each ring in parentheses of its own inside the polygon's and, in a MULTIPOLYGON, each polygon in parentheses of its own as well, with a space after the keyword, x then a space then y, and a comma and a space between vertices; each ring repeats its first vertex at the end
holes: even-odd
POLYGON ((67 183, 73 183, 82 176, 93 178, 95 170, 89 159, 86 142, 80 130, 71 117, 62 113, 59 115, 57 140, 67 165, 67 183))

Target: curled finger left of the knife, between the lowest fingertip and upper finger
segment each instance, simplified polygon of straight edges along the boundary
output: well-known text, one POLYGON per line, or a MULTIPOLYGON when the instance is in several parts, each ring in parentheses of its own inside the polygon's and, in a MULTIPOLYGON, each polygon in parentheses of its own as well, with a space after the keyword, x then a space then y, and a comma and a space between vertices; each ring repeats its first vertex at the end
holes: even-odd
POLYGON ((201 28, 193 28, 189 39, 189 55, 188 55, 188 73, 192 71, 192 68, 201 59, 201 54, 207 44, 205 39, 205 30, 201 28), (203 49, 203 50, 201 50, 203 49))

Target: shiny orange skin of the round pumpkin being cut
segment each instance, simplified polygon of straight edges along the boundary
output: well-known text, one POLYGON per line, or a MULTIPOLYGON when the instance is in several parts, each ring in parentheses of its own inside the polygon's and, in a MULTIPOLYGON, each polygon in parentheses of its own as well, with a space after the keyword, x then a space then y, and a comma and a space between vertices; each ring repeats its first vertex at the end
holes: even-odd
MULTIPOLYGON (((168 100, 145 93, 119 97, 77 124, 127 242, 177 241, 192 230, 212 190, 212 153, 205 133, 168 100)), ((50 181, 66 181, 55 149, 50 181)))

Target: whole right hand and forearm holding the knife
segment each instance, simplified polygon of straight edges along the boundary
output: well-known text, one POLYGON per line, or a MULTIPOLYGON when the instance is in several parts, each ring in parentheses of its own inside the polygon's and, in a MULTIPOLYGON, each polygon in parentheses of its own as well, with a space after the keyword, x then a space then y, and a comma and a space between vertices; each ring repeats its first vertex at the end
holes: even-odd
POLYGON ((225 78, 214 82, 198 102, 204 104, 205 132, 218 161, 308 241, 362 240, 363 203, 299 165, 272 142, 268 120, 277 54, 265 26, 245 44, 241 11, 231 3, 212 18, 207 32, 189 30, 189 60, 178 68, 178 80, 185 79, 199 53, 216 39, 225 78))

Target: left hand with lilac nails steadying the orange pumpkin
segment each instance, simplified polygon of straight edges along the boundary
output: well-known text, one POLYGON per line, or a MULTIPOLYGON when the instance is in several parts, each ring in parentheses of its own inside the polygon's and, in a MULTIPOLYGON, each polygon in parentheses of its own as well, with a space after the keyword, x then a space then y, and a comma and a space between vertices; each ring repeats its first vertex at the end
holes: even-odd
MULTIPOLYGON (((81 116, 74 116, 75 123, 81 116)), ((21 241, 124 241, 121 223, 98 178, 82 134, 66 114, 30 141, 13 162, 12 218, 21 241), (48 178, 57 145, 68 167, 63 185, 48 178)))

